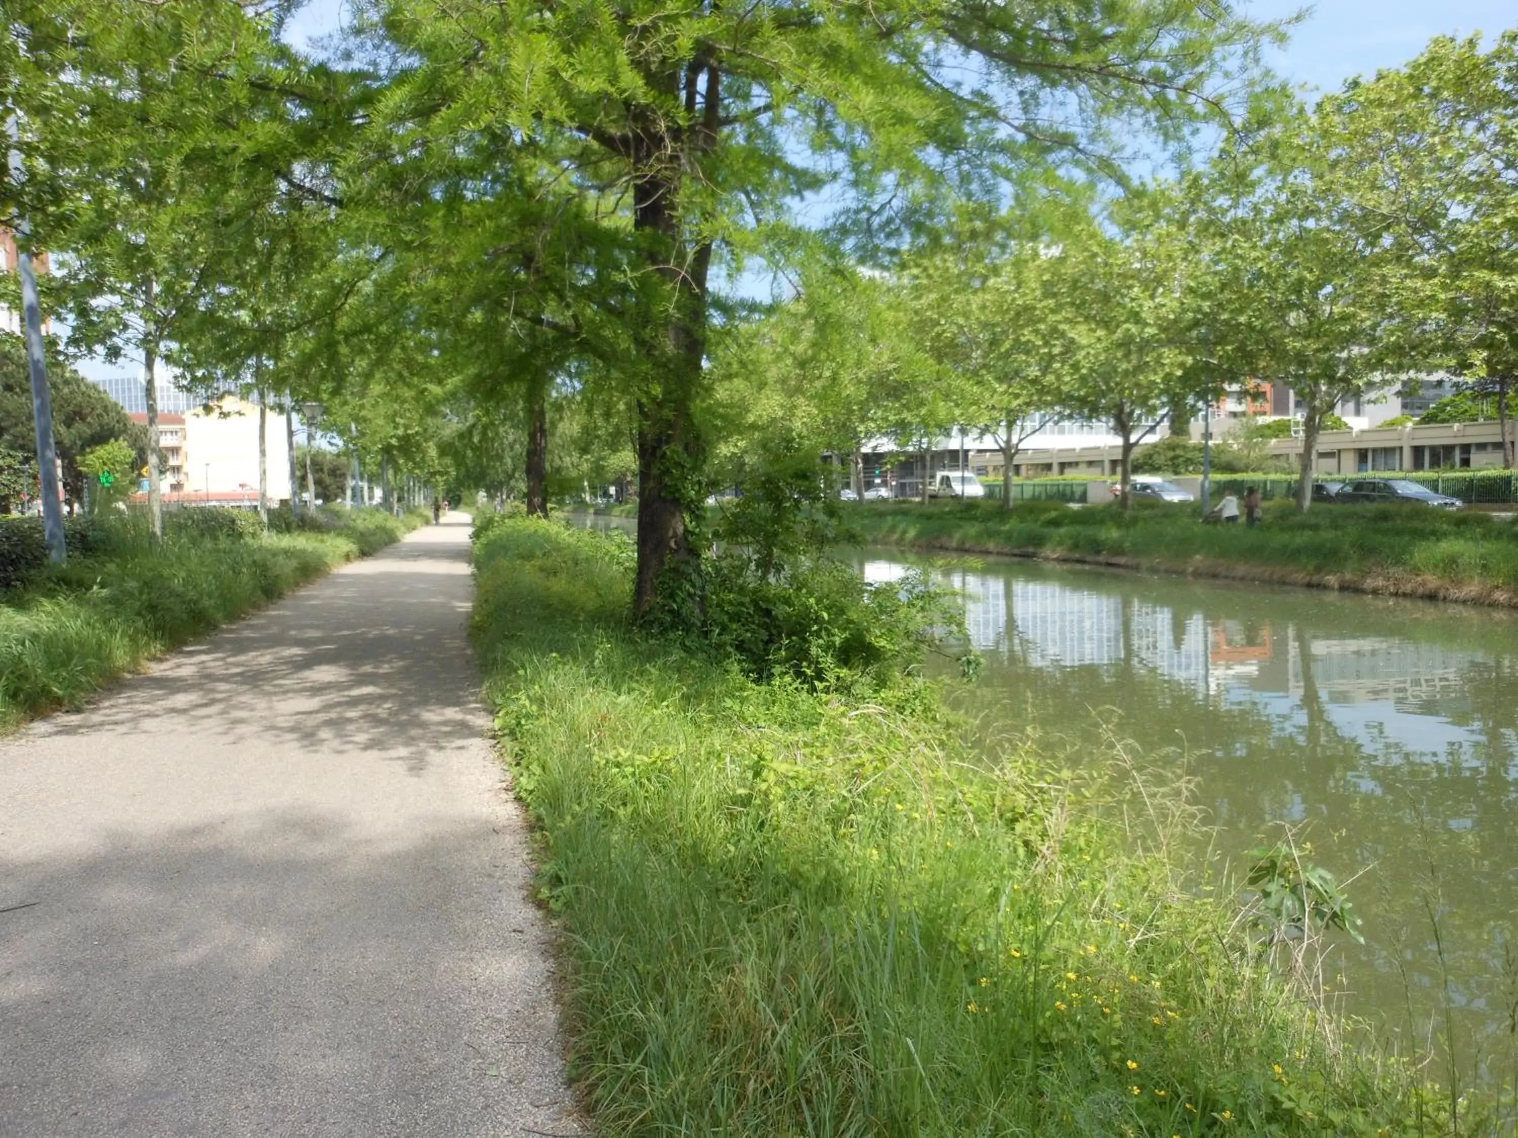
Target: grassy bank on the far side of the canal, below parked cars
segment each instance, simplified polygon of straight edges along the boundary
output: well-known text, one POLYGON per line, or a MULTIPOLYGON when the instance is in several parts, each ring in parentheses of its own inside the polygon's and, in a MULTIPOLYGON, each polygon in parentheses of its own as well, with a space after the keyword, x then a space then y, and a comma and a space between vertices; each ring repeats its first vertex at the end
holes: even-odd
POLYGON ((1268 504, 1264 522, 1201 525, 1196 507, 1070 510, 1025 502, 862 504, 849 511, 874 545, 1013 554, 1135 569, 1518 605, 1518 528, 1480 513, 1421 507, 1268 504))

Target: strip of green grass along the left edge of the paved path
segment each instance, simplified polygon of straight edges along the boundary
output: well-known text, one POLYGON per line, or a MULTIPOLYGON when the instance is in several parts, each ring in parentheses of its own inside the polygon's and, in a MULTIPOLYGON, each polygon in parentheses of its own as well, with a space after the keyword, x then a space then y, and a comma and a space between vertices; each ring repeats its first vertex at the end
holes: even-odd
MULTIPOLYGON (((0 731, 77 706, 111 680, 420 523, 378 510, 263 533, 257 516, 182 511, 155 546, 135 519, 73 527, 73 555, 0 592, 0 731)), ((8 527, 29 522, 3 522, 8 527)), ((39 527, 38 527, 39 528, 39 527)), ((11 534, 9 548, 30 540, 11 534)))

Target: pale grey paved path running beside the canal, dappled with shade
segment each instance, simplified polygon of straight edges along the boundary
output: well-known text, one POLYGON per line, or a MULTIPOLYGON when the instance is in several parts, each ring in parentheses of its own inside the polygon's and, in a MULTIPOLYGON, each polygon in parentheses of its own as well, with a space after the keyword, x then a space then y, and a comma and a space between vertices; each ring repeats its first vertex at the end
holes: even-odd
POLYGON ((446 522, 0 742, 0 1135, 580 1133, 446 522))

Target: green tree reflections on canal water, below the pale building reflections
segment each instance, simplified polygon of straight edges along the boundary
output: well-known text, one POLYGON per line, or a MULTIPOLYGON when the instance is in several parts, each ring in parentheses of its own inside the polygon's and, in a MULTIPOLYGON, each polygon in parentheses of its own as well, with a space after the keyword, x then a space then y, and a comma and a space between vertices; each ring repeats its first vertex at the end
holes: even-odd
MULTIPOLYGON (((1011 590, 1006 601, 1011 605, 1011 590)), ((1350 733, 1336 722, 1318 674, 1322 657, 1313 651, 1316 637, 1305 622, 1277 616, 1269 633, 1263 619, 1245 622, 1243 640, 1275 637, 1272 652, 1286 659, 1290 649, 1299 677, 1293 703, 1255 701, 1239 698, 1237 689, 1202 695, 1195 684, 1143 666, 1135 652, 1135 604, 1123 598, 1122 646, 1110 663, 1038 666, 1029 646, 1009 637, 1006 659, 991 660, 967 698, 979 709, 988 698, 1003 701, 1006 707, 994 716, 1002 725, 1009 719, 1037 727, 1076 753, 1101 747, 1110 730, 1152 759, 1164 751, 1184 754, 1201 804, 1220 828, 1219 845, 1233 857, 1278 836, 1272 824, 1286 821, 1309 824, 1315 859, 1340 877, 1374 866, 1351 886, 1366 916, 1368 945, 1345 945, 1350 1001, 1362 1012, 1387 1012, 1394 1026, 1406 1027, 1400 1023, 1406 1020, 1400 1014, 1406 973, 1419 1038, 1441 985, 1424 912, 1428 866, 1438 866, 1436 912, 1454 1001, 1466 1009, 1465 1030, 1495 1029, 1507 918, 1518 912, 1518 786, 1512 777, 1518 709, 1503 698, 1518 663, 1503 655, 1495 665, 1466 666, 1462 713, 1445 718, 1474 728, 1479 740, 1428 754, 1374 724, 1350 733)), ((1176 613, 1172 608, 1166 616, 1175 649, 1190 619, 1176 613)), ((1230 643, 1236 639, 1230 636, 1230 643)), ((1462 1053, 1472 1052, 1466 1041, 1462 1053)))

